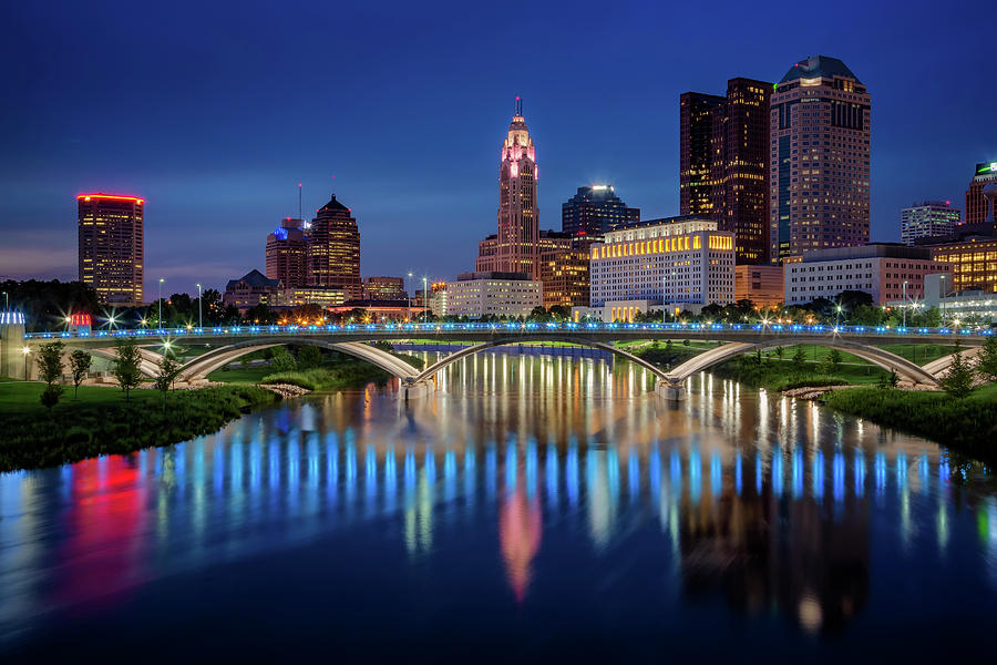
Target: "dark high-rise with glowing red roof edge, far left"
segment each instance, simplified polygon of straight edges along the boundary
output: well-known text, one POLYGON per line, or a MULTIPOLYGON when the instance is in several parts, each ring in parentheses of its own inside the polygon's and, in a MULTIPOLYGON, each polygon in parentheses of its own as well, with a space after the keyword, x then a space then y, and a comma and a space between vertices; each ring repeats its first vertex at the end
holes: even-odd
POLYGON ((80 282, 109 305, 141 305, 145 200, 116 194, 76 196, 80 282))

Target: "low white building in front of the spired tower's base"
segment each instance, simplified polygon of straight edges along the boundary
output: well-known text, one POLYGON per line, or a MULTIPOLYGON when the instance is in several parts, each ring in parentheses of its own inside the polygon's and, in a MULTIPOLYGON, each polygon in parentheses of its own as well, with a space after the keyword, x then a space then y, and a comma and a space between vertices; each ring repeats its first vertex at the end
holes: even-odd
POLYGON ((462 273, 446 284, 449 315, 514 318, 542 305, 543 286, 525 273, 462 273))

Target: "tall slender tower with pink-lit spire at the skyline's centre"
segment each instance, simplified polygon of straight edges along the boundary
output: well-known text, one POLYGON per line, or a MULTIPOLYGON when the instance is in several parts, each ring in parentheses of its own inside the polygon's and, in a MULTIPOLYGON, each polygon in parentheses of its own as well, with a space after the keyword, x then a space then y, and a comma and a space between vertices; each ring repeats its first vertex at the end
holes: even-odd
POLYGON ((536 149, 523 117, 523 100, 517 96, 516 114, 502 143, 502 164, 498 167, 496 268, 505 273, 526 273, 539 279, 536 181, 536 149))

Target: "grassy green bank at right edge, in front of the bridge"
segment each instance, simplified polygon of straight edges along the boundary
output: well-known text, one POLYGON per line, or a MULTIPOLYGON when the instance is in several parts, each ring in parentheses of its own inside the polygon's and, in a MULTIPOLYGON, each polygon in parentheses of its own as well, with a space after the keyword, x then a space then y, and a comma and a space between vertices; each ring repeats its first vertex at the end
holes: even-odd
POLYGON ((824 396, 833 409, 997 461, 997 385, 958 399, 944 392, 852 388, 824 396))

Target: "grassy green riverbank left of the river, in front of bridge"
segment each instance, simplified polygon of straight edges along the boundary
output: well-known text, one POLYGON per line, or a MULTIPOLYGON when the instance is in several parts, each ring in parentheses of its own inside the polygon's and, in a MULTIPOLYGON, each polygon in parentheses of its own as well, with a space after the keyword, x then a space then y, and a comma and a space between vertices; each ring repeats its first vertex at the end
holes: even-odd
POLYGON ((131 401, 116 388, 84 386, 80 399, 69 389, 48 412, 39 400, 42 390, 44 383, 20 383, 0 391, 0 472, 179 443, 280 401, 255 386, 175 390, 165 400, 157 390, 133 390, 131 401))

